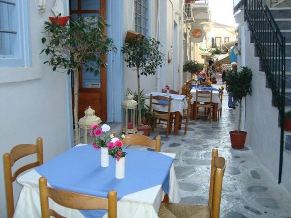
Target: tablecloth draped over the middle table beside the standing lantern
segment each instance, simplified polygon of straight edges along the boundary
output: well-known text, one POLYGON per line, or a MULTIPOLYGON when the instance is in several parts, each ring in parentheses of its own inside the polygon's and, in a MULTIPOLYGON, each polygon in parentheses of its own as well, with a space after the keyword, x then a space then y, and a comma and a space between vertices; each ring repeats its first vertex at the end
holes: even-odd
MULTIPOLYGON (((151 93, 146 94, 146 96, 151 96, 151 94, 153 94, 153 96, 157 96, 157 95, 166 96, 167 95, 167 93, 163 93, 163 92, 151 92, 151 93)), ((186 110, 188 108, 188 103, 185 98, 186 96, 176 95, 176 94, 169 94, 169 95, 172 97, 171 112, 174 113, 176 111, 179 111, 180 114, 183 116, 183 110, 186 110)), ((147 100, 145 104, 150 105, 150 100, 147 100)), ((167 106, 153 105, 153 109, 157 111, 168 112, 167 106)))

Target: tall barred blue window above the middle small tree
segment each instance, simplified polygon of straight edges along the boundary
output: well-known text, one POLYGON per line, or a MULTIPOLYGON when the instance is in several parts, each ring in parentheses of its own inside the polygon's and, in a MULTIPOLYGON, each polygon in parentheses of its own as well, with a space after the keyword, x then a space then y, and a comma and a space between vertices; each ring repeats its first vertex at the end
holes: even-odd
POLYGON ((142 35, 147 34, 148 0, 134 0, 134 31, 142 35))

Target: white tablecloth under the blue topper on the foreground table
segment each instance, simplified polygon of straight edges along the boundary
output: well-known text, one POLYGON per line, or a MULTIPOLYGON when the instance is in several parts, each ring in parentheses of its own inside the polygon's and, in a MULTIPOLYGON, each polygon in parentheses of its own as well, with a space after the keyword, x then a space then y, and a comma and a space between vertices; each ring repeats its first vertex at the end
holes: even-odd
MULTIPOLYGON (((175 154, 163 154, 175 158, 175 154)), ((36 170, 32 170, 17 179, 24 187, 21 190, 14 217, 41 217, 38 188, 38 179, 40 176, 41 175, 36 170)), ((159 207, 164 195, 165 192, 162 189, 162 185, 156 185, 148 189, 125 195, 117 201, 117 217, 158 218, 159 207)), ((169 198, 170 202, 180 201, 179 186, 173 164, 170 169, 169 198)), ((79 210, 63 207, 51 200, 50 207, 66 217, 84 217, 79 210)), ((103 217, 107 217, 107 213, 103 217)))

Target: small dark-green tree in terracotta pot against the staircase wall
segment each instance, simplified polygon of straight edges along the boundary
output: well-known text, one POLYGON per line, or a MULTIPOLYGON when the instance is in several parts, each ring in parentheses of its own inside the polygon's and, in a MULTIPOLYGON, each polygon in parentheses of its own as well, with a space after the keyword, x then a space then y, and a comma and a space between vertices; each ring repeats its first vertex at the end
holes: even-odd
POLYGON ((252 70, 248 67, 242 67, 242 71, 240 72, 230 71, 228 74, 226 74, 225 80, 227 92, 230 92, 239 104, 237 130, 229 132, 231 146, 233 148, 243 148, 247 132, 240 130, 242 112, 241 101, 247 95, 251 95, 252 70))

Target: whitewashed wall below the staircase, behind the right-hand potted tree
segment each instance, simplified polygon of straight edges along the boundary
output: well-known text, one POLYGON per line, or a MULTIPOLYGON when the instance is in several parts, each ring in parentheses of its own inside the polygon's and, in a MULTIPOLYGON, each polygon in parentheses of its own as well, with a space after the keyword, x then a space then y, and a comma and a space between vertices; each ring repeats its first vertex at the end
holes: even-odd
MULTIPOLYGON (((254 57, 254 44, 250 44, 250 32, 243 21, 242 13, 237 15, 236 22, 240 24, 239 28, 244 27, 242 31, 244 35, 239 36, 243 41, 242 56, 238 56, 238 69, 245 63, 245 66, 253 71, 252 95, 246 98, 245 105, 245 129, 248 132, 246 145, 251 147, 254 155, 273 175, 274 181, 277 181, 280 149, 278 109, 272 106, 271 90, 265 87, 265 73, 259 71, 259 58, 254 57)), ((284 153, 281 185, 289 192, 291 192, 290 164, 290 155, 284 153)))

